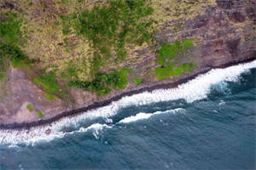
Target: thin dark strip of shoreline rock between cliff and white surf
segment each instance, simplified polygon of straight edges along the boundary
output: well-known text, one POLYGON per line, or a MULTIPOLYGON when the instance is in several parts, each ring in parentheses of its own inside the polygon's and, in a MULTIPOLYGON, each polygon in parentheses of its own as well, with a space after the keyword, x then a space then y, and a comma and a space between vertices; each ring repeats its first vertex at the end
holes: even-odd
POLYGON ((61 120, 61 118, 63 117, 67 117, 67 116, 76 116, 79 114, 83 114, 83 112, 85 111, 90 111, 90 110, 94 110, 106 105, 110 105, 113 101, 117 101, 125 96, 131 96, 134 94, 141 94, 143 92, 152 92, 153 90, 156 89, 168 89, 168 88, 177 88, 178 85, 183 84, 185 82, 189 82, 190 80, 194 79, 195 77, 201 75, 201 74, 205 74, 208 71, 212 70, 212 69, 218 69, 218 68, 226 68, 232 65, 238 65, 238 64, 242 64, 242 63, 247 63, 250 61, 253 61, 254 59, 256 59, 256 57, 252 57, 249 59, 240 59, 240 60, 233 60, 230 61, 228 63, 224 63, 223 65, 218 65, 218 66, 211 66, 211 67, 206 67, 203 71, 199 71, 193 75, 190 75, 188 77, 184 77, 183 79, 180 79, 176 82, 168 82, 168 83, 163 83, 163 84, 157 84, 151 87, 144 87, 144 88, 139 88, 137 90, 131 90, 129 92, 125 92, 123 94, 119 94, 114 96, 111 99, 107 99, 101 102, 94 102, 91 105, 85 106, 85 107, 81 107, 78 109, 74 109, 71 111, 63 111, 61 112, 59 115, 51 117, 49 119, 45 119, 45 120, 39 120, 39 121, 35 121, 35 122, 22 122, 22 123, 9 123, 9 124, 0 124, 0 129, 29 129, 31 127, 39 127, 39 126, 43 126, 46 124, 50 124, 52 122, 56 122, 61 120))

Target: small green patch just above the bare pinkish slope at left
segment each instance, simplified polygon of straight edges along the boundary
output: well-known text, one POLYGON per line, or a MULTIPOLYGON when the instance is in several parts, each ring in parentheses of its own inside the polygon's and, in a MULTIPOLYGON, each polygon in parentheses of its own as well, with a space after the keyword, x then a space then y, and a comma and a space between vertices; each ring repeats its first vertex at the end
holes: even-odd
POLYGON ((42 88, 49 93, 56 93, 60 90, 54 71, 51 71, 49 74, 43 73, 35 78, 34 82, 42 86, 42 88))

